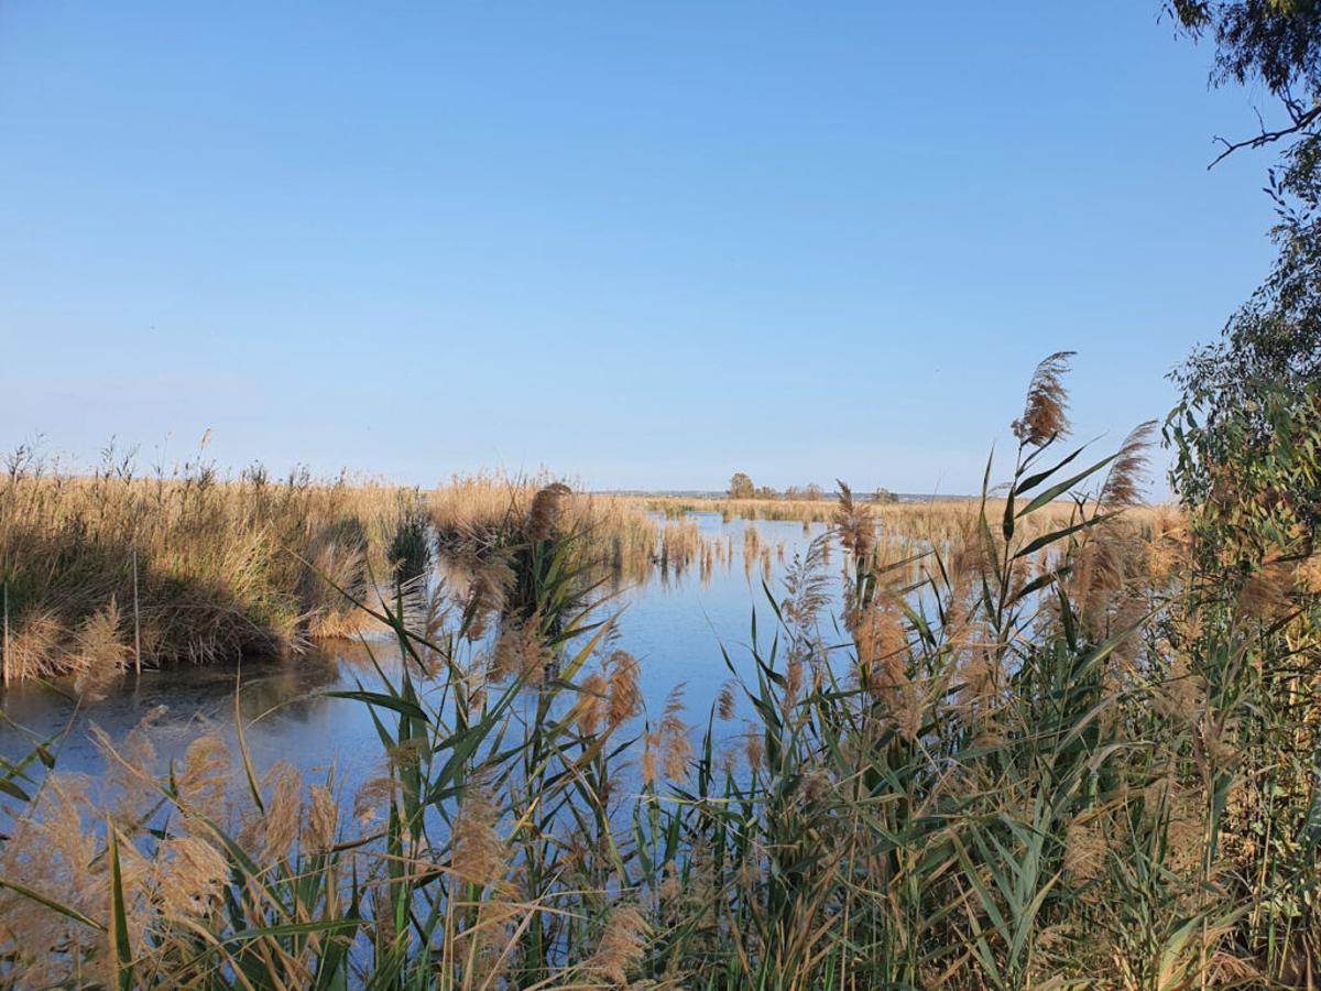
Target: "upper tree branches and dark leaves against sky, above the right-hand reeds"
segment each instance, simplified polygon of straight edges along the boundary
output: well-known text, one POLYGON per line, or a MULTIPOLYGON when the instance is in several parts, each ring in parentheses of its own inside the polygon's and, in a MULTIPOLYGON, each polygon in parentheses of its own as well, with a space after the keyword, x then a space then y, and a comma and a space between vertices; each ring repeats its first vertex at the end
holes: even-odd
MULTIPOLYGON (((1221 159, 1281 143, 1281 168, 1271 170, 1267 189, 1279 215, 1272 237, 1280 252, 1221 340, 1194 351, 1172 375, 1184 392, 1166 428, 1180 451, 1173 481, 1185 502, 1198 502, 1226 477, 1226 459, 1264 457, 1283 424, 1301 425, 1305 440, 1314 423, 1321 383, 1321 4, 1169 0, 1165 9, 1194 37, 1214 38, 1213 85, 1263 85, 1287 118, 1275 128, 1263 123, 1246 140, 1219 139, 1221 159)), ((1321 503, 1310 476, 1284 477, 1293 490, 1272 498, 1300 507, 1321 503)), ((1309 542, 1318 511, 1301 521, 1309 542)))

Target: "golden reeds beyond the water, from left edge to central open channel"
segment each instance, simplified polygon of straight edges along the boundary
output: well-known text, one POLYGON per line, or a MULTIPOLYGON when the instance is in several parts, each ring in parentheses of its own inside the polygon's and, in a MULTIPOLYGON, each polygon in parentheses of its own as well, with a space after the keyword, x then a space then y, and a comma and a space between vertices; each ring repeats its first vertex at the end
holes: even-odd
MULTIPOLYGON (((371 482, 221 477, 201 459, 147 477, 107 456, 91 474, 20 449, 0 476, 0 674, 77 675, 279 657, 382 630, 353 604, 416 583, 437 562, 483 564, 520 536, 539 482, 494 476, 421 492, 371 482)), ((695 527, 662 527, 609 497, 568 495, 601 571, 679 572, 695 527)))

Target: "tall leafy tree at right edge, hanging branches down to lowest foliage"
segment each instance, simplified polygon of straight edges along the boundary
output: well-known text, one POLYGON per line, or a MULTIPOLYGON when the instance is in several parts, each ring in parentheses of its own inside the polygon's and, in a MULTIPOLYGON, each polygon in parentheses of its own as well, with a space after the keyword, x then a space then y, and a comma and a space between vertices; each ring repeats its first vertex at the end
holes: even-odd
MULTIPOLYGON (((1321 4, 1317 0, 1170 0, 1193 34, 1215 40, 1213 85, 1263 85, 1287 123, 1247 140, 1221 139, 1219 159, 1280 147, 1268 193, 1280 254, 1269 277, 1173 374, 1182 400, 1165 424, 1170 480, 1185 507, 1189 568, 1184 643, 1203 686, 1202 725, 1232 725, 1235 760, 1207 764, 1211 838, 1203 884, 1235 835, 1268 817, 1279 828, 1236 851, 1234 872, 1269 897, 1236 933, 1240 949, 1285 978, 1317 958, 1314 901, 1321 844, 1321 4), (1234 794, 1234 801, 1230 794, 1234 794)), ((1217 161, 1219 161, 1217 159, 1217 161)), ((1211 163, 1213 165, 1215 163, 1211 163)), ((1226 872, 1227 875, 1229 872, 1226 872)), ((1255 891, 1254 891, 1255 893, 1255 891)), ((1202 930, 1202 957, 1210 942, 1202 930)))

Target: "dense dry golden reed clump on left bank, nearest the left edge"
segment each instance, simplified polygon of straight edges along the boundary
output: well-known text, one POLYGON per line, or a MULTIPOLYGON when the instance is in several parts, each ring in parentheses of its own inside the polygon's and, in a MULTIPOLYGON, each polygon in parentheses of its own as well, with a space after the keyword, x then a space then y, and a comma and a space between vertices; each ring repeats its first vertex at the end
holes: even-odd
POLYGON ((279 654, 357 632, 361 593, 394 567, 411 493, 251 469, 222 480, 184 464, 90 476, 20 451, 0 476, 5 679, 279 654))

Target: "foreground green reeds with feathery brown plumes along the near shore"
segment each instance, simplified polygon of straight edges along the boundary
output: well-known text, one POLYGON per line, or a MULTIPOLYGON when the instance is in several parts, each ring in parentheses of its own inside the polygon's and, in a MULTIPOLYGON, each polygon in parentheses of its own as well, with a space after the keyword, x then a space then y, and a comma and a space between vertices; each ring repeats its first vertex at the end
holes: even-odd
POLYGON ((1001 498, 914 555, 844 489, 748 655, 716 653, 709 712, 643 703, 552 485, 457 601, 359 600, 406 662, 338 692, 382 740, 355 795, 254 768, 242 735, 168 769, 149 727, 103 740, 96 786, 34 745, 4 769, 0 976, 1314 986, 1314 548, 1242 539, 1242 486, 1135 513, 1151 428, 1075 460, 1066 359, 1033 378, 1001 498))

